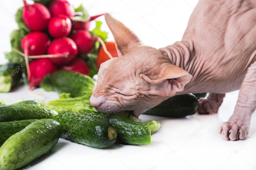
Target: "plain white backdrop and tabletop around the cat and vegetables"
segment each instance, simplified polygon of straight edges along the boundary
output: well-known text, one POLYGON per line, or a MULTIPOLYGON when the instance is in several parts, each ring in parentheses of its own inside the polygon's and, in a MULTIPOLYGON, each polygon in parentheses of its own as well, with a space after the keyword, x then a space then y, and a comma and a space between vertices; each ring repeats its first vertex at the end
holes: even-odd
MULTIPOLYGON (((70 1, 71 2, 71 1, 70 1)), ((72 1, 78 6, 82 1, 72 1)), ((91 15, 113 12, 114 16, 130 27, 145 44, 159 48, 179 41, 188 18, 197 1, 87 1, 93 4, 91 15), (140 17, 141 16, 141 17, 140 17)), ((17 28, 14 14, 22 1, 0 1, 0 62, 3 52, 10 50, 9 34, 17 28)), ((99 20, 103 20, 101 17, 99 20)), ((92 23, 94 24, 94 23, 92 23)), ((108 30, 103 23, 103 30, 108 30)), ((109 40, 113 37, 109 34, 109 40)), ((20 87, 12 93, 0 94, 1 101, 14 103, 21 100, 58 98, 55 92, 42 89, 28 91, 20 87)), ((116 143, 107 149, 95 149, 60 139, 49 154, 32 162, 26 169, 256 169, 256 125, 246 140, 224 141, 217 134, 221 122, 231 116, 238 91, 228 93, 219 110, 219 116, 193 115, 184 119, 168 119, 142 115, 143 121, 156 119, 162 128, 152 135, 152 144, 145 146, 116 143), (204 127, 200 129, 200 127, 204 127), (199 128, 199 129, 198 129, 199 128), (189 134, 199 131, 192 139, 189 134)), ((255 113, 252 122, 255 122, 255 113)))

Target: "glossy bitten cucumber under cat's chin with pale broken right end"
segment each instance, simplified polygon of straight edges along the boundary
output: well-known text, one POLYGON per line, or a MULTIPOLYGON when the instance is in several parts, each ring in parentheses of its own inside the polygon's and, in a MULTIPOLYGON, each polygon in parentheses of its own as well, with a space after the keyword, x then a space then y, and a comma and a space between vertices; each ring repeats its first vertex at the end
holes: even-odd
POLYGON ((150 144, 151 134, 161 127, 156 120, 139 123, 118 114, 111 114, 105 119, 117 129, 118 140, 133 145, 150 144))

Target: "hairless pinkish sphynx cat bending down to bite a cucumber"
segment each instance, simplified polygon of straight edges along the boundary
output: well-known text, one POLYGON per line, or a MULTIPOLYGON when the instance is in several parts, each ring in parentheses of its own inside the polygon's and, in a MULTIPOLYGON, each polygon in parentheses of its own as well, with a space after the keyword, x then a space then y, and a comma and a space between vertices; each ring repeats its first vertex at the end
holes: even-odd
POLYGON ((209 92, 200 99, 199 112, 213 114, 225 93, 240 89, 233 115, 219 134, 225 140, 247 137, 256 107, 255 0, 200 0, 182 40, 160 49, 144 45, 110 14, 105 20, 119 57, 101 64, 93 107, 139 116, 171 96, 209 92))

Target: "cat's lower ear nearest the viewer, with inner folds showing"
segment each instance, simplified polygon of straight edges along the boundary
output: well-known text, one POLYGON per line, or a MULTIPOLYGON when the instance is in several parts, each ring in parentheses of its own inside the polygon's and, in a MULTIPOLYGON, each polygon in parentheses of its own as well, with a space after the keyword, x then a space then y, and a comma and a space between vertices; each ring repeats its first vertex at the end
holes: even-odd
POLYGON ((192 75, 180 67, 166 63, 163 67, 148 72, 148 76, 142 74, 143 79, 151 84, 152 95, 174 96, 183 91, 184 86, 190 82, 192 75))

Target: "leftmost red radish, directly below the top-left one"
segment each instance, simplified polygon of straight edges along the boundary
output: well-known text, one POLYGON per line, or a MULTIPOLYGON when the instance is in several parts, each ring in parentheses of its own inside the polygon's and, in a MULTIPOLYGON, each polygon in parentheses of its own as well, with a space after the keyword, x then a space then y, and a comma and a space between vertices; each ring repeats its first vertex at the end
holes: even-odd
POLYGON ((50 39, 47 34, 39 31, 27 34, 20 43, 23 51, 28 52, 28 55, 43 55, 46 54, 50 45, 50 39))

